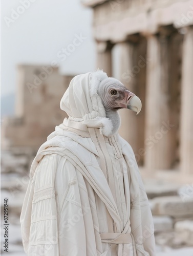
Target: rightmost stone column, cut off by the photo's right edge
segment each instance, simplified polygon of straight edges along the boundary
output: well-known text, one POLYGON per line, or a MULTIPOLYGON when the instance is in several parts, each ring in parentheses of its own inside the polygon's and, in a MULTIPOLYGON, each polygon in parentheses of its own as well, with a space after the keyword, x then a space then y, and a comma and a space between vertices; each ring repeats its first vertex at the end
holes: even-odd
POLYGON ((193 27, 186 28, 182 51, 181 170, 193 174, 193 27))

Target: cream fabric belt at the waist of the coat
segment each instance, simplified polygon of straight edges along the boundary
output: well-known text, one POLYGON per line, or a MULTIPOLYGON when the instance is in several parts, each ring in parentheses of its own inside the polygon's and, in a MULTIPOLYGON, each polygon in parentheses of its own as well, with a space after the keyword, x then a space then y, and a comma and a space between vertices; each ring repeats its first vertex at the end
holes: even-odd
POLYGON ((101 233, 100 234, 101 241, 103 243, 110 244, 130 244, 132 243, 131 234, 126 233, 101 233))

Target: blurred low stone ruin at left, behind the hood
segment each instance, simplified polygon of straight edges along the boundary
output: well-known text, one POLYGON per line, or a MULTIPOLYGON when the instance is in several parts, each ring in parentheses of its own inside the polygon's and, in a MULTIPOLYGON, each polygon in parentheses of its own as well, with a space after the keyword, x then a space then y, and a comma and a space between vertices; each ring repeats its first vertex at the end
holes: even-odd
POLYGON ((73 76, 62 76, 50 66, 20 65, 17 70, 15 116, 3 122, 3 147, 36 152, 67 117, 59 103, 73 76))

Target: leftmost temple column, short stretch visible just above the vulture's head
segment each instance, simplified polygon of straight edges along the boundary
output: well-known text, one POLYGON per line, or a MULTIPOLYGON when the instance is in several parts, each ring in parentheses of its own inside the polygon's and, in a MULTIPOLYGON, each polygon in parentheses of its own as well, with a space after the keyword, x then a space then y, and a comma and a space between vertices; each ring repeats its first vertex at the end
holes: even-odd
POLYGON ((97 69, 112 76, 112 45, 109 42, 97 42, 97 69))

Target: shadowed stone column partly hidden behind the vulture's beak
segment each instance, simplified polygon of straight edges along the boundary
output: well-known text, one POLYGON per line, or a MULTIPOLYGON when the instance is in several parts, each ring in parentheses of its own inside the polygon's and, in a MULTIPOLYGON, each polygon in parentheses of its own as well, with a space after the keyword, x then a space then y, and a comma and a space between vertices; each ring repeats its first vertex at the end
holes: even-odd
POLYGON ((144 38, 138 38, 135 42, 121 42, 119 48, 119 80, 142 101, 142 110, 138 116, 135 112, 126 109, 119 112, 121 116, 119 133, 133 147, 138 164, 142 164, 144 156, 146 41, 144 38))

